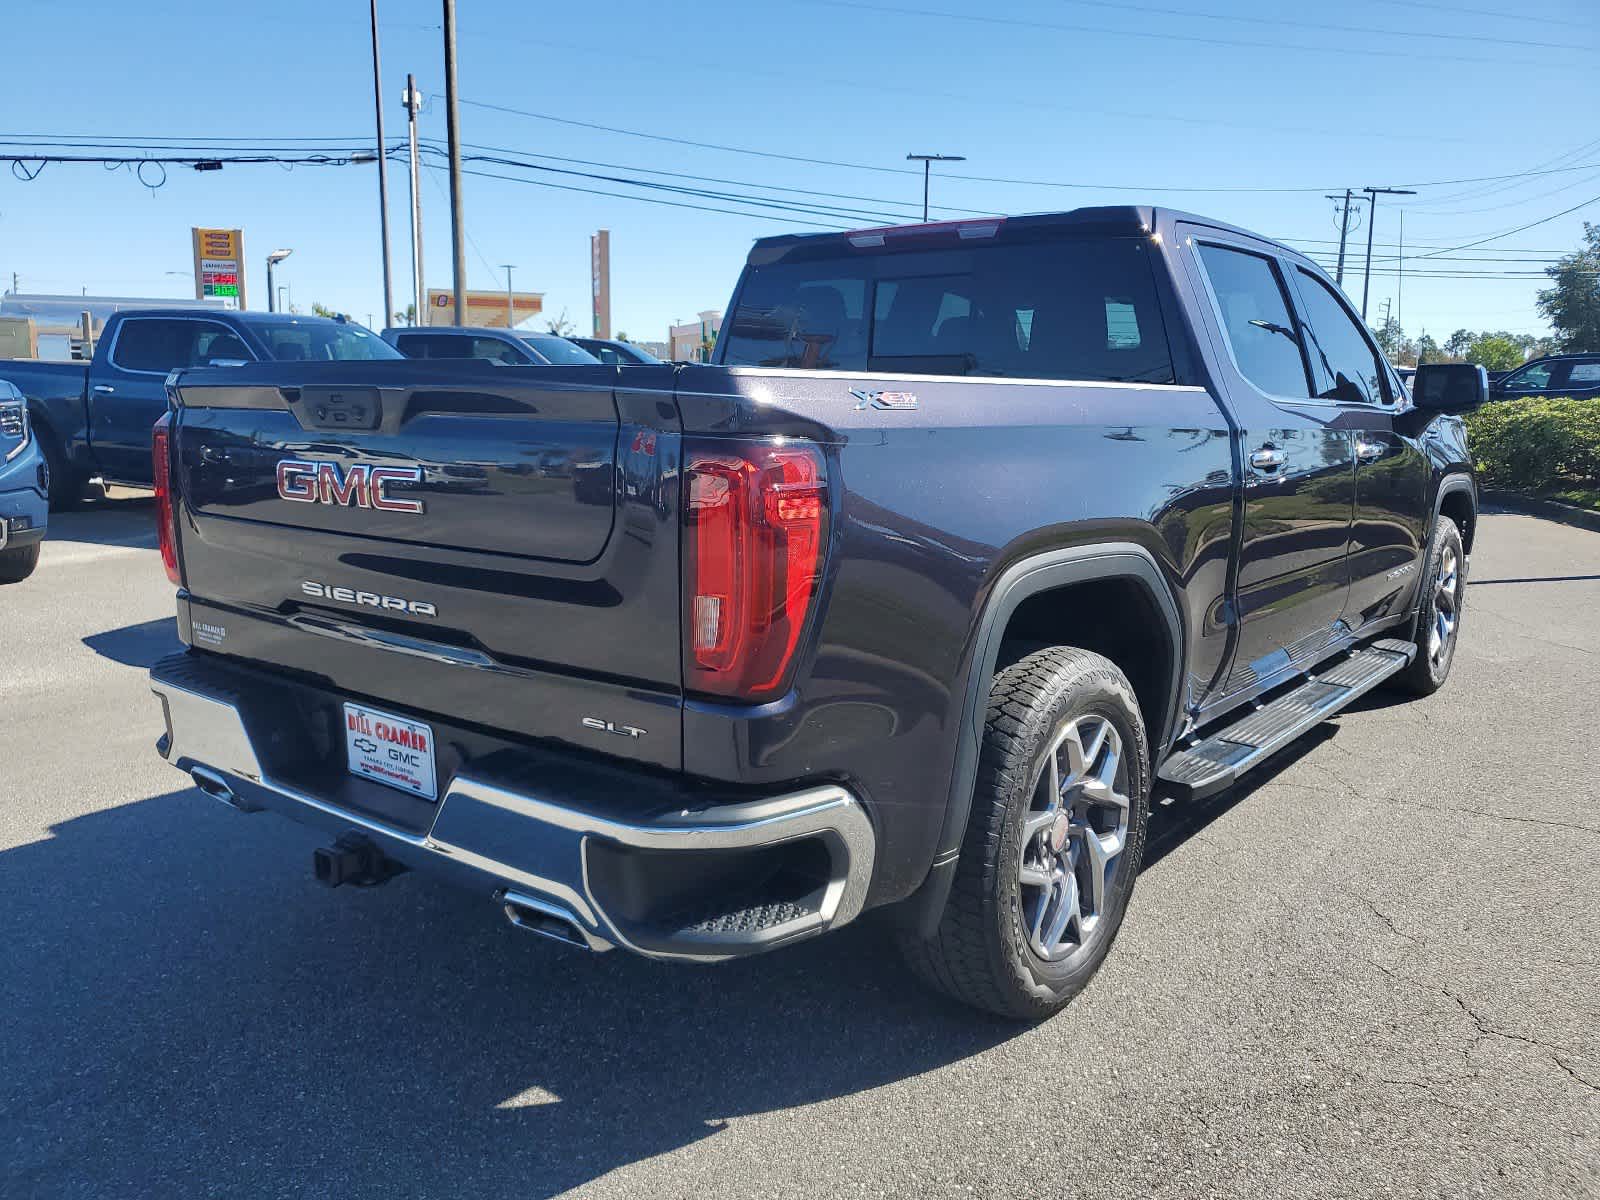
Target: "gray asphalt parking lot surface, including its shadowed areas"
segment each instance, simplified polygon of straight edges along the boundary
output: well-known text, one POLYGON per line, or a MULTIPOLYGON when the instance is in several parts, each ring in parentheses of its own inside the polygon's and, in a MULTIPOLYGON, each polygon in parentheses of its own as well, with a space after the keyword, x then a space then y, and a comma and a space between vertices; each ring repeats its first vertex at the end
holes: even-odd
POLYGON ((1454 677, 1158 814, 1061 1018, 869 925, 584 957, 186 787, 142 501, 0 589, 0 1195, 1600 1195, 1600 533, 1486 515, 1454 677))

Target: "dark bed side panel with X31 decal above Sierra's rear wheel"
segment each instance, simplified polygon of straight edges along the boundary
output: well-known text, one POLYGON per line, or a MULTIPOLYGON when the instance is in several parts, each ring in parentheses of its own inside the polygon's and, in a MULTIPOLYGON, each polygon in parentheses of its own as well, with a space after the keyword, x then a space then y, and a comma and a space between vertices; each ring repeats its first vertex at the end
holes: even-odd
POLYGON ((1205 389, 707 366, 683 370, 678 405, 685 435, 822 442, 834 486, 822 610, 795 688, 760 709, 691 701, 685 770, 848 782, 878 824, 875 901, 926 874, 973 635, 1008 566, 1134 542, 1179 600, 1190 674, 1219 669, 1224 638, 1203 634, 1219 632, 1234 458, 1205 389), (910 390, 918 408, 862 410, 853 387, 910 390))

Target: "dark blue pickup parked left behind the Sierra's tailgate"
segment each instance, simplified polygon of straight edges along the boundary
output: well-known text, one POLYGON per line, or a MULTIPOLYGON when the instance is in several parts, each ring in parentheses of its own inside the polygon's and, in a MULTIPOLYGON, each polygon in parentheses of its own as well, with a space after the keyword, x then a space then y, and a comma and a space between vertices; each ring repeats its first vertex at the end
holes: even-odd
POLYGON ((166 411, 179 366, 398 358, 371 330, 342 318, 221 309, 130 309, 106 322, 90 363, 0 360, 0 381, 27 397, 50 464, 51 507, 91 477, 150 486, 150 427, 166 411))

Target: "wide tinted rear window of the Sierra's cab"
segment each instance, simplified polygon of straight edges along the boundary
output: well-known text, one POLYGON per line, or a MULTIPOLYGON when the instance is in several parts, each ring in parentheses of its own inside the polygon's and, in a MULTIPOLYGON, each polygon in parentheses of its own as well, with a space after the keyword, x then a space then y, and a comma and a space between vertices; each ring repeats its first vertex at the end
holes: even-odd
POLYGON ((750 266, 720 362, 1171 382, 1144 238, 750 266))

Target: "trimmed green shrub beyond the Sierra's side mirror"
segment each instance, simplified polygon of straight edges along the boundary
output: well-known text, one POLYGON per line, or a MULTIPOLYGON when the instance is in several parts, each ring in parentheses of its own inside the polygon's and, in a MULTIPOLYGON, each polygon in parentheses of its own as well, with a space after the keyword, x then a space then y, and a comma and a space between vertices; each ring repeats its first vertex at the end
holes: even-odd
POLYGON ((1467 416, 1467 440, 1490 486, 1550 491, 1600 480, 1600 402, 1499 400, 1467 416))

